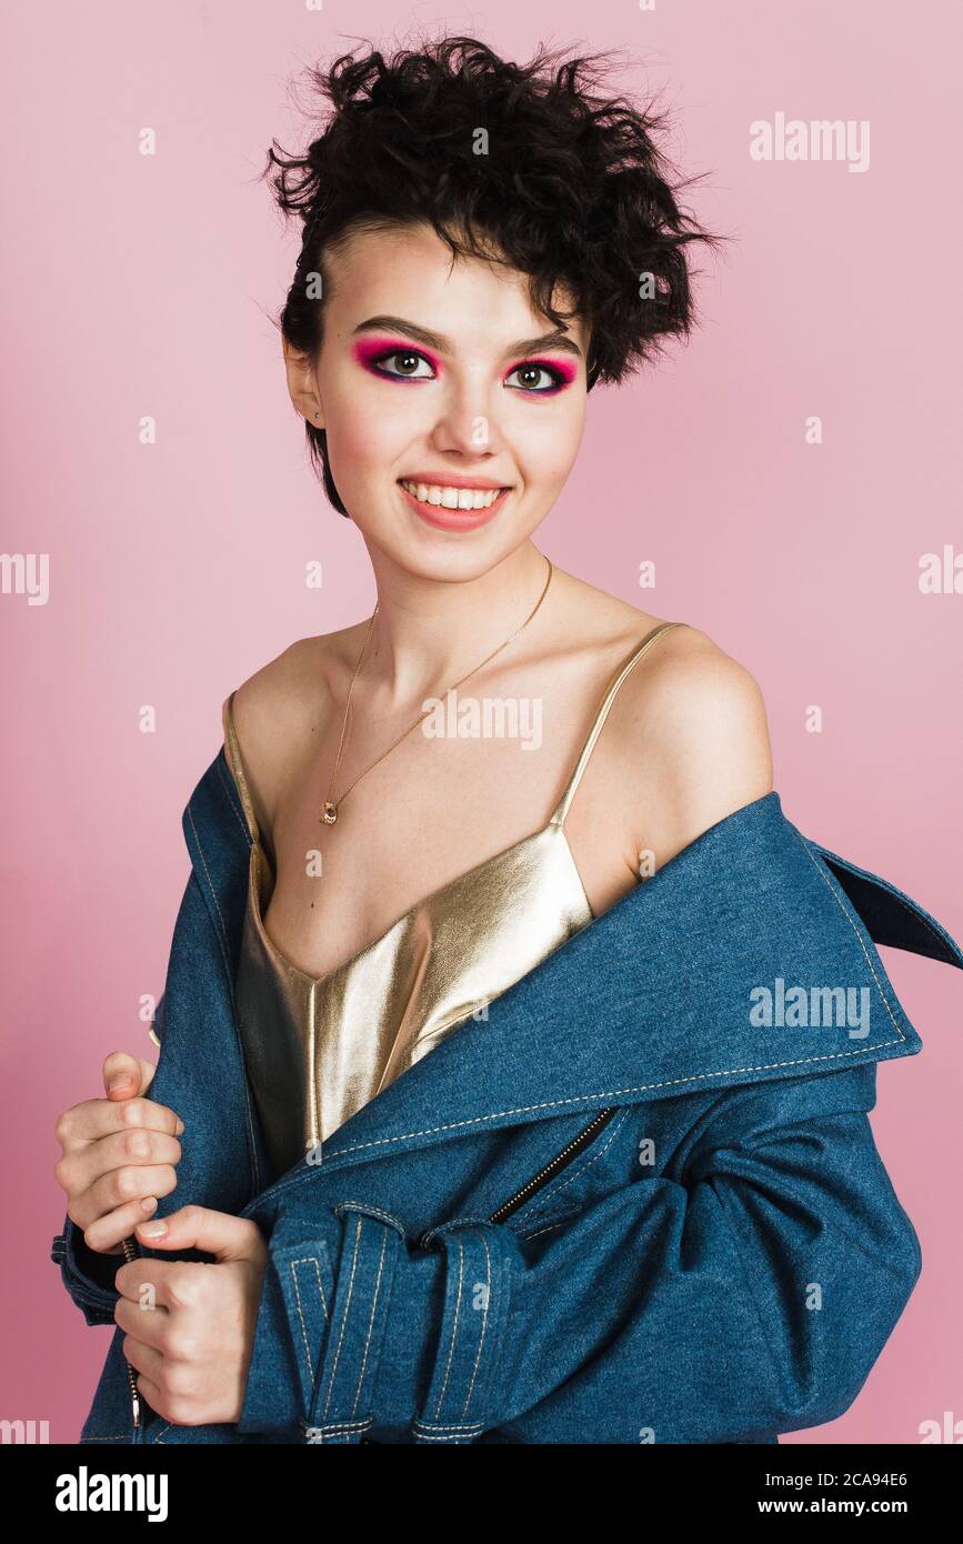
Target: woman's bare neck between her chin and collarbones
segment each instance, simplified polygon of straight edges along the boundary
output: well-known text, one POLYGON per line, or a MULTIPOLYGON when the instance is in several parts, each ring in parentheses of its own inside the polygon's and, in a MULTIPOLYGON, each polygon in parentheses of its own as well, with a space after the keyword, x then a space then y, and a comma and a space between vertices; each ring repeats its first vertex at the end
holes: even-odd
POLYGON ((444 690, 480 665, 531 616, 548 579, 548 559, 529 540, 474 579, 426 579, 377 550, 369 553, 378 616, 361 673, 389 712, 444 690))

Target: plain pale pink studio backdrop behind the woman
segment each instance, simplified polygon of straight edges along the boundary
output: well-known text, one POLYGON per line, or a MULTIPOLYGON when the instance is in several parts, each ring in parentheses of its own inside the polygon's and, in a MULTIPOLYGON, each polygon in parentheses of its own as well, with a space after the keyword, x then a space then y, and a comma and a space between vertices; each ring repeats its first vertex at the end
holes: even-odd
MULTIPOLYGON (((437 31, 435 15, 523 60, 540 39, 630 51, 620 85, 662 93, 673 154, 707 173, 690 204, 736 242, 699 255, 691 344, 591 395, 537 540, 748 665, 789 818, 963 940, 963 594, 917 584, 923 553, 963 547, 960 14, 937 0, 3 11, 3 545, 49 553, 51 590, 39 607, 0 598, 0 1416, 73 1442, 110 1329, 83 1325, 48 1258, 65 1210, 57 1113, 102 1092, 110 1050, 153 1051, 137 1001, 164 984, 188 872, 181 812, 221 744, 222 699, 292 639, 373 604, 361 540, 307 468, 267 320, 298 245, 256 182, 272 136, 299 144, 289 77, 364 34, 404 40, 412 19, 437 31), (752 161, 750 122, 779 111, 869 119, 869 170, 752 161), (156 446, 137 443, 145 414, 156 446), (810 414, 821 446, 804 442, 810 414), (321 593, 304 587, 312 559, 321 593), (644 559, 654 594, 637 588, 644 559), (145 703, 156 735, 137 729, 145 703)), ((857 1403, 790 1442, 909 1444, 921 1420, 963 1417, 963 973, 883 954, 924 1053, 880 1068, 872 1122, 924 1271, 857 1403)))

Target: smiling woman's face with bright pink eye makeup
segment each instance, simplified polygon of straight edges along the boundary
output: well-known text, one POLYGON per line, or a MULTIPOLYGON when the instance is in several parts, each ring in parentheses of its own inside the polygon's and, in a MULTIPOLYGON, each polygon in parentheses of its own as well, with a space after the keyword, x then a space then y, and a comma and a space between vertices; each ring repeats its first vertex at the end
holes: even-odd
POLYGON ((332 477, 370 548, 424 577, 475 577, 565 485, 585 426, 586 329, 532 313, 514 269, 452 264, 431 227, 358 233, 330 269, 319 358, 312 369, 289 355, 295 406, 327 431, 332 477), (466 483, 486 500, 508 491, 465 508, 466 483))

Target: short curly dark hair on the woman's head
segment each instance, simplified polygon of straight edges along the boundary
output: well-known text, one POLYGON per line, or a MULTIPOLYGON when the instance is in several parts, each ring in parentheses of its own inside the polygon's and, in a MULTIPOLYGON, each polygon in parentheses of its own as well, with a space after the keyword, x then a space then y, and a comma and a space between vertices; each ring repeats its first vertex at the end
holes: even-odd
MULTIPOLYGON (((526 273, 532 310, 554 326, 582 317, 591 327, 590 391, 620 381, 667 335, 688 335, 696 313, 685 247, 725 238, 679 207, 687 184, 673 185, 653 139, 665 116, 593 90, 607 57, 540 46, 529 65, 515 65, 474 37, 446 37, 389 59, 372 46, 309 69, 324 97, 323 130, 301 156, 278 153, 273 141, 261 173, 278 168, 278 204, 304 221, 276 318, 292 347, 312 357, 321 346, 326 256, 355 232, 409 222, 431 224, 452 256, 526 273), (554 309, 557 284, 574 310, 554 309)), ((327 497, 347 514, 327 435, 306 428, 327 497)))

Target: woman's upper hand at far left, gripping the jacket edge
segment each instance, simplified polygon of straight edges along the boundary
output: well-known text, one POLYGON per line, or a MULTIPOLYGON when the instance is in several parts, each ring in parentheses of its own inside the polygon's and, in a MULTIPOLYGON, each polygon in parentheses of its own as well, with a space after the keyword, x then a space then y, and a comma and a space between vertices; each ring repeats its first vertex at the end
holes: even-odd
POLYGON ((120 1240, 177 1184, 184 1121, 144 1098, 156 1070, 156 1062, 111 1051, 106 1098, 71 1106, 54 1129, 63 1149, 54 1178, 66 1190, 66 1215, 97 1254, 122 1254, 120 1240))

